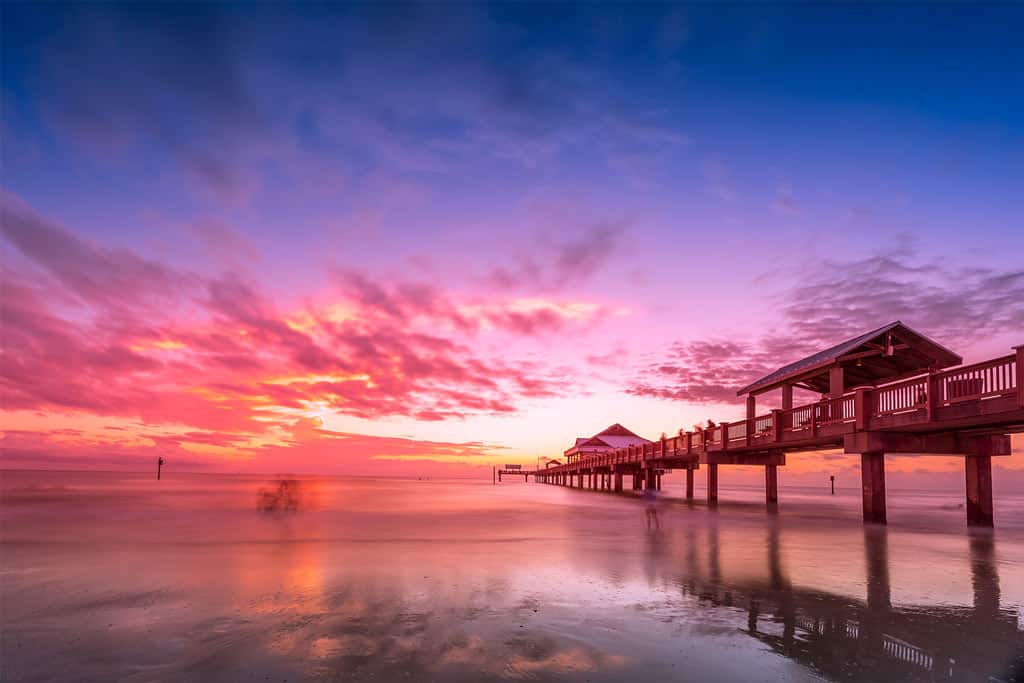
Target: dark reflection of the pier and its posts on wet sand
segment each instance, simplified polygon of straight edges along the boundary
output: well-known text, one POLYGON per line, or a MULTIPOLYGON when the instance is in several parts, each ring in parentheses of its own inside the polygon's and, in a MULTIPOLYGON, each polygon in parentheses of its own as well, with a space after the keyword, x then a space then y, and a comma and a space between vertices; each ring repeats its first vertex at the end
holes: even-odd
MULTIPOLYGON (((709 524, 707 566, 696 565, 694 531, 683 538, 681 593, 701 605, 745 609, 745 632, 785 657, 829 678, 856 680, 1020 680, 1022 636, 1014 613, 999 607, 991 531, 970 537, 973 607, 894 608, 884 527, 863 531, 866 600, 794 585, 780 562, 779 530, 767 530, 764 581, 723 583, 719 529, 709 524), (1016 659, 1015 659, 1016 657, 1016 659), (1004 676, 1005 678, 1000 678, 1004 676)), ((650 535, 648 570, 675 556, 677 539, 650 535)))

